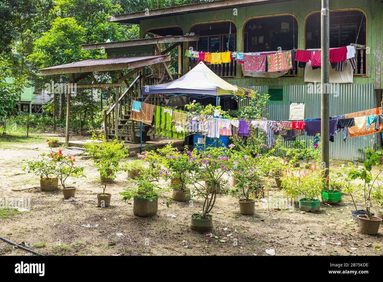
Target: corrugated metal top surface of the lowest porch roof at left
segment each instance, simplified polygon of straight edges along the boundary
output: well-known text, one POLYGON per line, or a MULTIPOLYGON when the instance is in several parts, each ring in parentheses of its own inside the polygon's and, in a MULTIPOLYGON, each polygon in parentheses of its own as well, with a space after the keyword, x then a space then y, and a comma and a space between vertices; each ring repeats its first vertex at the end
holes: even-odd
POLYGON ((77 67, 86 67, 86 66, 104 66, 108 64, 128 64, 128 63, 133 63, 133 62, 142 61, 146 59, 154 59, 154 58, 160 58, 165 56, 167 55, 141 56, 141 57, 131 57, 131 58, 94 59, 94 60, 73 62, 69 64, 61 64, 59 66, 52 66, 52 67, 40 69, 40 71, 46 70, 46 69, 65 69, 65 68, 77 68, 77 67))

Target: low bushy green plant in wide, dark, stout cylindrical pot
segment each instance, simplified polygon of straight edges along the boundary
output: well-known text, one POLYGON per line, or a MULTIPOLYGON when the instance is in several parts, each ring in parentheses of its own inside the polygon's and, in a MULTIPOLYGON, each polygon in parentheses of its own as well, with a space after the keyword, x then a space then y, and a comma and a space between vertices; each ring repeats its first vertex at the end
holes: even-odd
MULTIPOLYGON (((133 214, 140 217, 155 216, 158 211, 158 196, 164 193, 164 188, 154 183, 153 179, 142 176, 135 179, 135 185, 129 186, 123 192, 119 193, 123 196, 122 201, 133 198, 133 214)), ((169 201, 167 201, 169 206, 169 201)))

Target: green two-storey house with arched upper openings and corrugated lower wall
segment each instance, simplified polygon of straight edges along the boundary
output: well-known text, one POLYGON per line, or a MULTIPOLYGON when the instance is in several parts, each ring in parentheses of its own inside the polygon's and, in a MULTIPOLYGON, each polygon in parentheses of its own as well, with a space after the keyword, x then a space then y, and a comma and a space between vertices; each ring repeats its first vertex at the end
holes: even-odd
MULTIPOLYGON (((351 81, 338 84, 336 93, 331 96, 330 115, 380 107, 383 3, 380 0, 331 0, 329 5, 330 48, 355 46, 357 63, 351 81)), ((197 41, 183 42, 178 48, 178 70, 183 74, 196 64, 184 56, 190 48, 204 52, 321 48, 320 13, 320 0, 220 0, 115 15, 108 21, 139 24, 141 38, 199 36, 197 41)), ((129 53, 127 48, 116 45, 107 51, 110 56, 118 56, 129 53)), ((271 78, 247 76, 235 61, 209 67, 231 84, 268 93, 270 119, 288 119, 290 102, 305 103, 305 118, 320 116, 320 94, 310 88, 313 83, 305 82, 304 68, 271 78)), ((238 106, 246 103, 242 101, 238 106)), ((221 106, 224 109, 238 107, 230 98, 222 99, 221 106)), ((381 144, 380 134, 348 138, 345 143, 340 135, 331 143, 330 158, 355 160, 362 157, 358 149, 381 144)))

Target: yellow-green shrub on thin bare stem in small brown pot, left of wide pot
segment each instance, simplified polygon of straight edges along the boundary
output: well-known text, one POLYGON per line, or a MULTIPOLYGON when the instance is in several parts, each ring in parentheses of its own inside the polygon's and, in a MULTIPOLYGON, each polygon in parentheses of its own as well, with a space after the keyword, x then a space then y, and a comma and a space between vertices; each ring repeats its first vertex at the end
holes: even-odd
POLYGON ((100 180, 103 183, 102 193, 97 194, 97 206, 105 208, 110 206, 110 193, 105 193, 107 183, 116 179, 116 173, 122 170, 119 162, 128 156, 128 147, 123 141, 116 139, 103 140, 101 143, 87 143, 85 148, 93 151, 92 161, 100 173, 100 180), (94 150, 93 147, 97 147, 94 150))

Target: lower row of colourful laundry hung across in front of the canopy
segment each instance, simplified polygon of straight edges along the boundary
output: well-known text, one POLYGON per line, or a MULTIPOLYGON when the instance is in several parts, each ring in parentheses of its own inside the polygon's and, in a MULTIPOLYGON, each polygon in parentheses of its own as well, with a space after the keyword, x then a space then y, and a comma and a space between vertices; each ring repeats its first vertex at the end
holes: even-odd
MULTIPOLYGON (((182 110, 155 106, 144 102, 133 101, 131 119, 152 124, 157 135, 183 139, 185 133, 206 135, 211 138, 233 136, 249 137, 252 130, 260 129, 265 133, 268 147, 275 143, 274 135, 281 135, 285 141, 296 140, 296 137, 306 133, 316 136, 321 133, 321 119, 304 120, 256 120, 237 118, 217 118, 213 115, 197 115, 182 110)), ((374 134, 383 127, 382 109, 375 108, 351 114, 332 116, 329 119, 329 139, 334 142, 334 136, 343 129, 344 141, 347 137, 374 134)))

